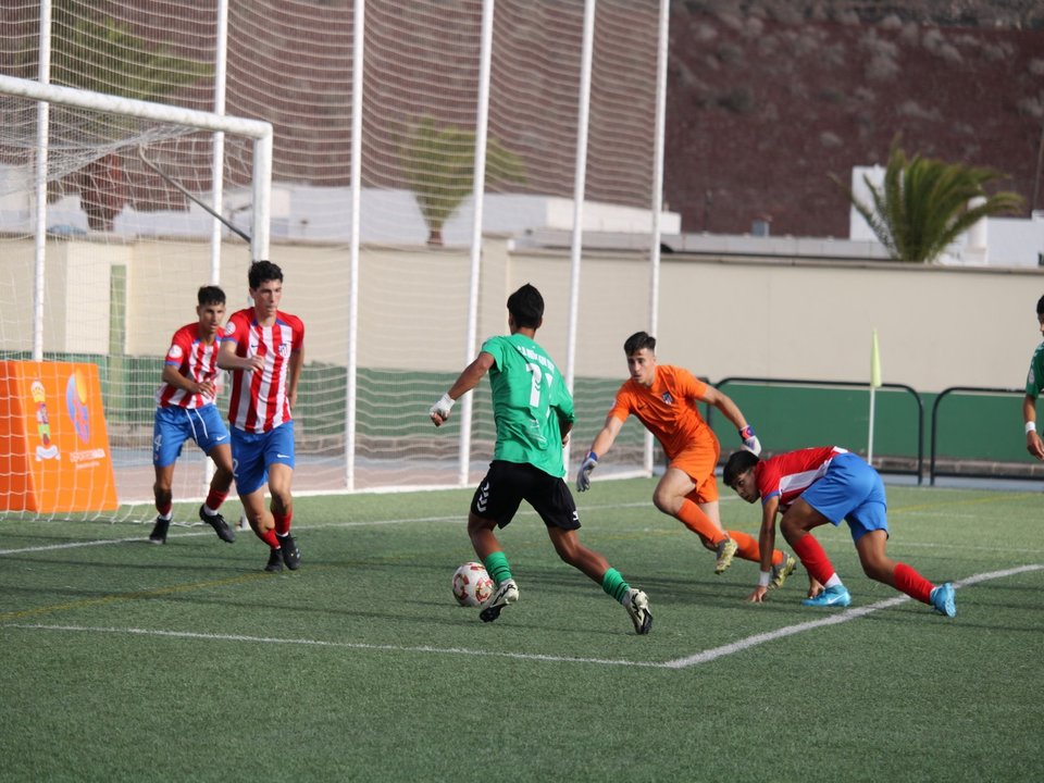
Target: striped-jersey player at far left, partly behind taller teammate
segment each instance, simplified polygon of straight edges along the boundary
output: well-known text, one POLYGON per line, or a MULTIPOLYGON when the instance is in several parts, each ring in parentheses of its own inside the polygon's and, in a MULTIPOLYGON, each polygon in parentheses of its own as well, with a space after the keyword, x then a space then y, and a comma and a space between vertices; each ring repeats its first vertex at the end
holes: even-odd
POLYGON ((225 293, 217 286, 202 286, 196 295, 199 320, 174 333, 163 362, 163 382, 156 390, 156 417, 152 425, 152 467, 156 469, 156 525, 149 534, 153 544, 165 544, 173 517, 174 464, 182 446, 191 438, 214 461, 216 470, 199 518, 222 540, 229 544, 236 533, 217 509, 232 488, 232 447, 228 430, 221 420, 214 398, 217 395, 217 349, 221 322, 225 318, 225 293))

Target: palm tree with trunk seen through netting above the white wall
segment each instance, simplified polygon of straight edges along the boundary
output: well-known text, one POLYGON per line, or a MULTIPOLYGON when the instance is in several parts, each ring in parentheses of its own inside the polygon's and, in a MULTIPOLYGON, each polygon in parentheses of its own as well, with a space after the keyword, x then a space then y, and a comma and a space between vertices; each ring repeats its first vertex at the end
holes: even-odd
MULTIPOLYGON (((399 149, 406 181, 427 225, 427 244, 443 244, 443 225, 471 196, 474 186, 475 134, 453 125, 439 129, 423 117, 399 149)), ((486 144, 486 177, 490 182, 525 183, 522 160, 495 138, 486 144)))

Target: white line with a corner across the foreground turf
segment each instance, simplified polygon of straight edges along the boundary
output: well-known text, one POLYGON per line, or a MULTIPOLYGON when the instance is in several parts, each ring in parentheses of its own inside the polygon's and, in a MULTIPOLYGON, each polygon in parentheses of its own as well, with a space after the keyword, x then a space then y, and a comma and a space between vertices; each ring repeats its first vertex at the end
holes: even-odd
MULTIPOLYGON (((954 587, 967 587, 969 585, 979 584, 981 582, 990 582, 993 580, 1004 579, 1006 576, 1014 576, 1020 573, 1028 573, 1031 571, 1042 571, 1044 570, 1044 563, 1033 563, 1029 566, 1020 566, 1018 568, 1007 569, 1005 571, 991 571, 989 573, 973 574, 967 579, 960 580, 959 582, 954 583, 954 587)), ((538 655, 532 652, 493 652, 489 650, 476 650, 468 649, 464 647, 432 647, 428 645, 418 646, 418 647, 403 647, 399 645, 376 645, 376 644, 365 644, 361 642, 324 642, 322 639, 307 639, 307 638, 274 638, 268 636, 243 636, 237 634, 202 634, 202 633, 191 633, 186 631, 156 631, 149 629, 135 629, 135 627, 92 627, 86 625, 45 625, 45 624, 28 624, 28 623, 4 623, 0 627, 4 629, 23 629, 32 631, 59 631, 66 633, 111 633, 111 634, 129 634, 129 635, 140 635, 140 636, 156 636, 156 637, 169 637, 169 638, 186 638, 186 639, 201 639, 209 642, 246 642, 251 644, 275 644, 275 645, 306 645, 310 647, 328 647, 328 648, 338 648, 338 649, 358 649, 358 650, 376 650, 376 651, 391 651, 391 652, 420 652, 420 654, 432 654, 432 655, 461 655, 461 656, 476 656, 476 657, 487 657, 487 658, 509 658, 513 660, 522 661, 537 661, 546 663, 594 663, 597 666, 629 666, 629 667, 645 667, 652 669, 689 669, 701 663, 709 663, 719 658, 724 658, 726 656, 735 655, 742 652, 743 650, 750 649, 753 647, 758 647, 769 642, 774 642, 786 636, 794 636, 799 633, 805 633, 807 631, 815 631, 816 629, 825 627, 829 625, 840 625, 841 623, 850 622, 853 620, 858 620, 859 618, 867 617, 873 612, 880 611, 882 609, 887 609, 890 607, 898 606, 905 601, 910 600, 908 596, 898 595, 893 598, 888 598, 883 601, 878 601, 877 604, 871 604, 866 607, 858 607, 856 609, 846 609, 836 614, 830 614, 828 617, 820 618, 818 620, 811 620, 809 622, 798 623, 796 625, 787 625, 785 627, 778 629, 775 631, 769 631, 767 633, 755 634, 754 636, 748 636, 744 639, 733 642, 731 644, 722 645, 720 647, 712 647, 711 649, 703 650, 695 655, 686 656, 685 658, 676 658, 674 660, 656 662, 656 661, 642 661, 642 660, 623 660, 623 659, 611 659, 611 658, 577 658, 569 656, 554 656, 554 655, 538 655)), ((829 611, 829 610, 828 610, 829 611)), ((947 622, 945 620, 939 619, 937 622, 947 622)))

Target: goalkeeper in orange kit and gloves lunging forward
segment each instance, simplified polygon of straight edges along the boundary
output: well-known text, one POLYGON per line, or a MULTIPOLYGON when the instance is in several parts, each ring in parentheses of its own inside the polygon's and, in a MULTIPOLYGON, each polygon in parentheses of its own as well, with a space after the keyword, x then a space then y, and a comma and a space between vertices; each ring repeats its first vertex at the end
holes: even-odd
MULTIPOLYGON (((758 539, 738 531, 724 531, 718 507, 714 467, 721 446, 699 414, 697 405, 707 402, 735 425, 745 448, 757 455, 761 444, 739 408, 726 395, 696 378, 688 370, 656 363, 656 338, 645 332, 631 335, 623 344, 631 378, 617 391, 606 424, 595 436, 576 476, 576 488, 586 492, 598 460, 617 439, 624 421, 634 414, 652 433, 670 460, 656 485, 654 505, 699 536, 704 546, 717 552, 714 573, 723 573, 738 555, 761 561, 758 539)), ((779 587, 794 571, 797 560, 782 551, 772 552, 772 585, 779 587)))

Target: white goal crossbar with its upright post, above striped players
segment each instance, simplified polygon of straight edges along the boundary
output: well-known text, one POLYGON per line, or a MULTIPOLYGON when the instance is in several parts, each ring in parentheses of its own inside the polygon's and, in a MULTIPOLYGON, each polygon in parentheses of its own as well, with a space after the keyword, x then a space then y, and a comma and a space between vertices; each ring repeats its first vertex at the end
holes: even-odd
POLYGON ((0 74, 0 94, 153 122, 185 125, 200 130, 235 134, 253 139, 252 198, 254 225, 250 243, 251 257, 254 260, 268 258, 272 192, 272 123, 263 120, 214 114, 196 109, 184 109, 165 103, 153 103, 135 98, 122 98, 60 85, 41 84, 33 79, 3 74, 0 74))

